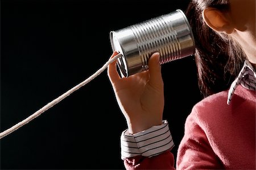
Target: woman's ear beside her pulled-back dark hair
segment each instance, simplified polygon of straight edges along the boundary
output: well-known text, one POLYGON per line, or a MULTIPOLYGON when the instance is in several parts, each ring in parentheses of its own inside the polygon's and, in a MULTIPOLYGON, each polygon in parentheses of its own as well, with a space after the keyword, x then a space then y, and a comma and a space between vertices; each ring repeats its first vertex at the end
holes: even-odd
POLYGON ((229 13, 223 13, 218 9, 208 7, 203 10, 203 19, 214 31, 225 32, 226 34, 232 34, 234 31, 234 24, 229 13))

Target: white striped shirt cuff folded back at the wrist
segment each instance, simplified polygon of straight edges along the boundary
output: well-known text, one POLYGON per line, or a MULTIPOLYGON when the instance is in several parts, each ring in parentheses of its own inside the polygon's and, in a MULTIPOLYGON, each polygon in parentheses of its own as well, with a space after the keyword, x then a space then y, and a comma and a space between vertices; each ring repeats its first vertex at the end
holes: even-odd
POLYGON ((138 155, 152 157, 171 150, 173 147, 174 142, 167 121, 133 135, 125 130, 121 135, 121 158, 123 160, 138 155))

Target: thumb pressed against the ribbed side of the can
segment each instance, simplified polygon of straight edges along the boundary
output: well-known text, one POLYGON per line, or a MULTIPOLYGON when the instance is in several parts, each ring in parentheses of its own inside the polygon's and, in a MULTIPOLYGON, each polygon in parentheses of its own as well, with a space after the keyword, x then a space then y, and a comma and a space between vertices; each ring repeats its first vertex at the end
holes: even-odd
POLYGON ((150 84, 153 86, 163 85, 161 65, 159 64, 159 57, 160 57, 160 54, 156 52, 150 57, 148 61, 148 68, 150 73, 150 84))

